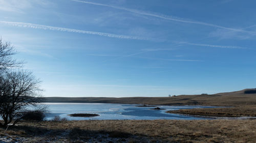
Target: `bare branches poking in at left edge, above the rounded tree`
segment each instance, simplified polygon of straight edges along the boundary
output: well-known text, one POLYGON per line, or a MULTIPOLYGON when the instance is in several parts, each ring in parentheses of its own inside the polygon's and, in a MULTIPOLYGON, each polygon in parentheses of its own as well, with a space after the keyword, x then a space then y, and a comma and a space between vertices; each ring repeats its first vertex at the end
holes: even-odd
POLYGON ((0 37, 0 71, 3 72, 7 68, 20 67, 23 63, 17 62, 12 58, 16 54, 10 42, 4 42, 0 37))

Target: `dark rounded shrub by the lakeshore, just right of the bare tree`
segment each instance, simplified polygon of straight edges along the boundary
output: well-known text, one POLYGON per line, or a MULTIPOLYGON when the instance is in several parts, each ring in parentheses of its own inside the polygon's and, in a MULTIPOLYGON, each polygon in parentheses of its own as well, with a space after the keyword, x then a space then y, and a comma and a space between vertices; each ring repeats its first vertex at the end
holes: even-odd
POLYGON ((23 120, 42 121, 45 118, 45 111, 28 111, 23 115, 23 120))

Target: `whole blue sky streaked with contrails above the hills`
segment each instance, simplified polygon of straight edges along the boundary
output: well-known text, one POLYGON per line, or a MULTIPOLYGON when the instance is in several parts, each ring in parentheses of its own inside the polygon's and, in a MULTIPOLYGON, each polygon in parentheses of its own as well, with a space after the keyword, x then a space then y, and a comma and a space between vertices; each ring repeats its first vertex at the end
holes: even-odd
POLYGON ((45 96, 214 94, 256 87, 255 5, 0 0, 0 36, 45 96))

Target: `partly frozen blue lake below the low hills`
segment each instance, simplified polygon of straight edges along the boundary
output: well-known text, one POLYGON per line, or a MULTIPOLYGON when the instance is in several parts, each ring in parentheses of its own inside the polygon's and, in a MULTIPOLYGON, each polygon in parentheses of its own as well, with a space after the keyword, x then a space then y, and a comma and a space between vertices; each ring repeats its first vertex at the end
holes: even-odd
MULTIPOLYGON (((50 113, 46 120, 55 116, 67 118, 68 120, 202 120, 192 116, 183 116, 165 113, 167 110, 190 109, 190 108, 212 108, 214 106, 158 106, 165 110, 151 110, 155 107, 136 107, 137 104, 108 104, 108 103, 45 103, 50 113), (71 113, 97 113, 98 117, 70 117, 71 113)), ((207 118, 209 119, 209 118, 207 118)))

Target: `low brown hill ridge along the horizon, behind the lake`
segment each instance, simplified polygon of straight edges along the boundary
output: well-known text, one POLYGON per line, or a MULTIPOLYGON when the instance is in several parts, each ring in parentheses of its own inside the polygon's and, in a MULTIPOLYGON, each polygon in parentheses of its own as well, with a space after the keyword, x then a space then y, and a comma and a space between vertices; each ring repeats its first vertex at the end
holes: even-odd
POLYGON ((253 93, 254 90, 256 89, 214 95, 179 95, 176 97, 45 97, 44 102, 212 106, 256 105, 256 93, 253 93), (252 91, 252 93, 246 94, 246 91, 252 91))

